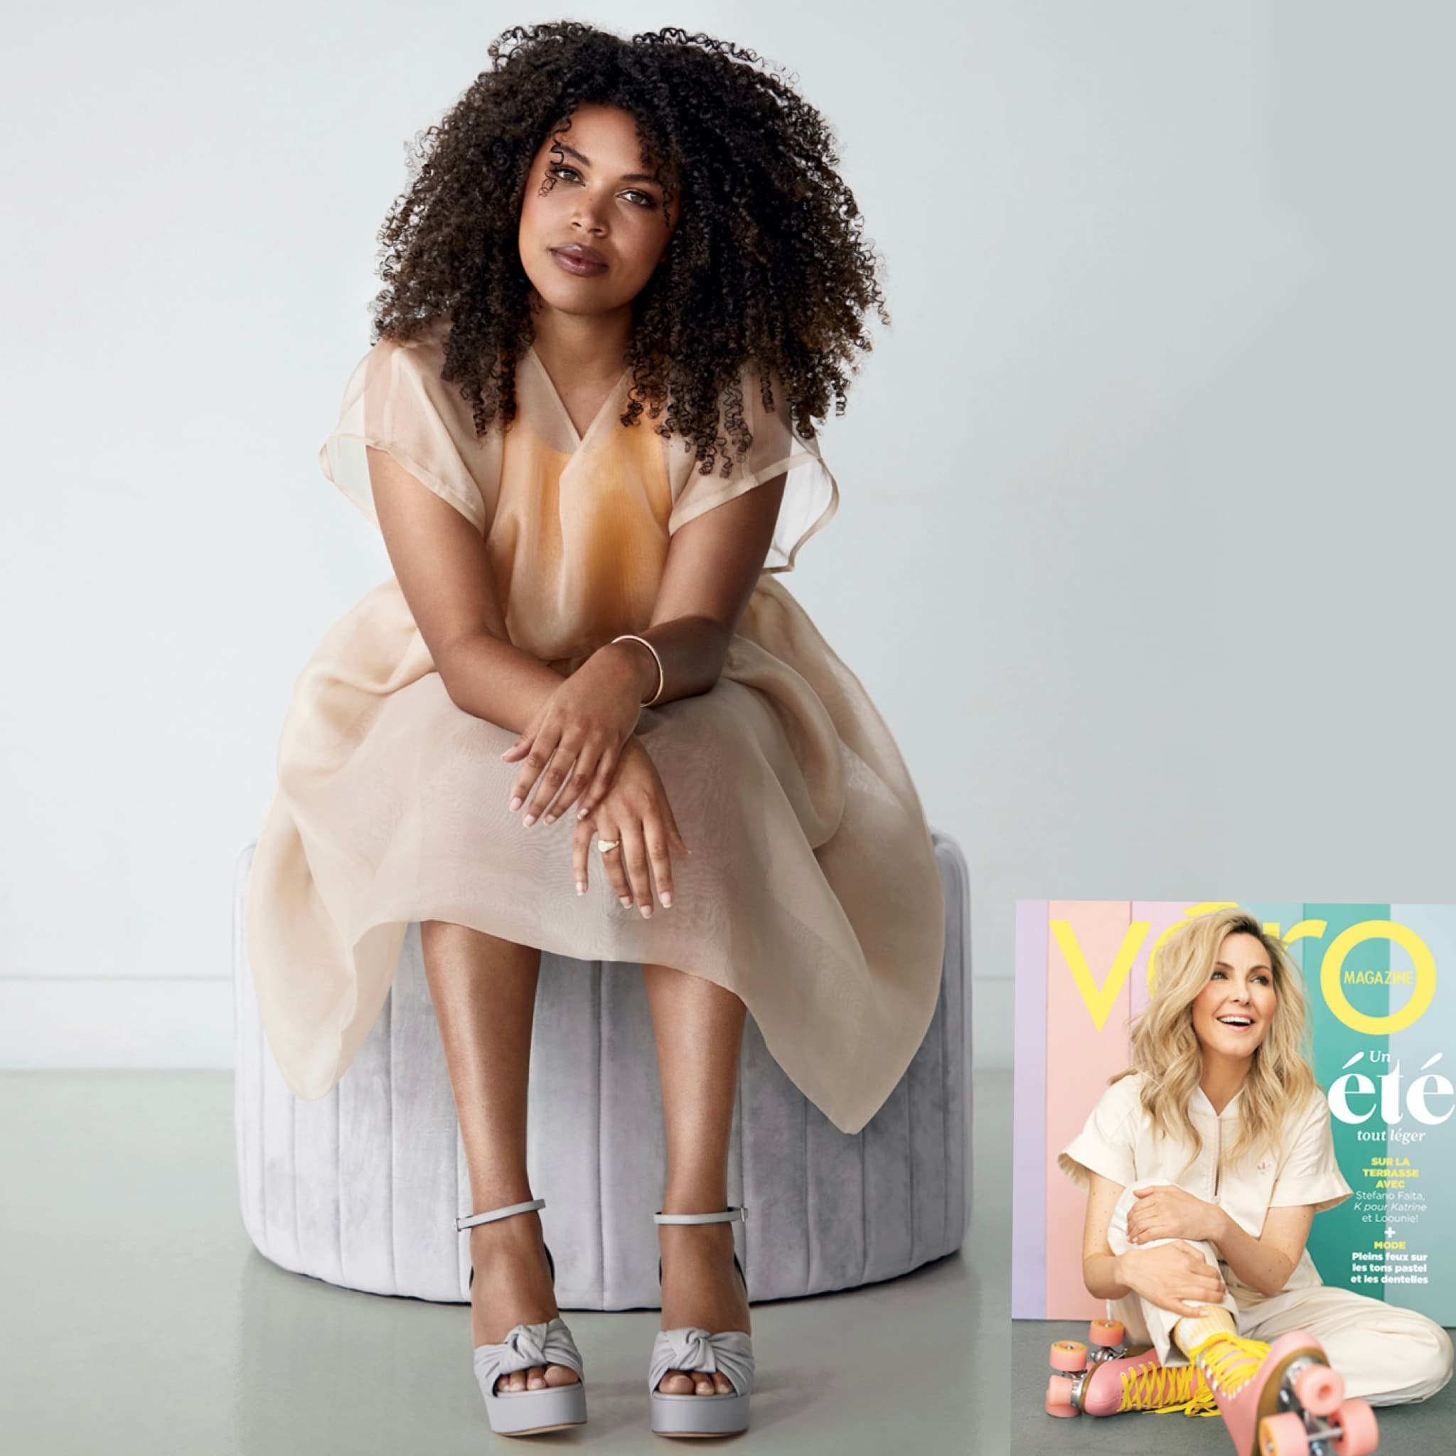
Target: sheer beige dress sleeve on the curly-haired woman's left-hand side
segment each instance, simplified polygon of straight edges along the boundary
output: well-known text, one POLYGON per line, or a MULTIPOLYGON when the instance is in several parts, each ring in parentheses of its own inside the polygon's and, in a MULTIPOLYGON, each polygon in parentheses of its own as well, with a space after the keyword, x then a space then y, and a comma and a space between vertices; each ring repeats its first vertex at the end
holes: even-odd
POLYGON ((441 361, 428 341, 380 339, 344 387, 339 422, 319 448, 319 464, 377 526, 365 450, 383 450, 483 536, 492 514, 492 447, 476 440, 457 387, 440 377, 441 361))

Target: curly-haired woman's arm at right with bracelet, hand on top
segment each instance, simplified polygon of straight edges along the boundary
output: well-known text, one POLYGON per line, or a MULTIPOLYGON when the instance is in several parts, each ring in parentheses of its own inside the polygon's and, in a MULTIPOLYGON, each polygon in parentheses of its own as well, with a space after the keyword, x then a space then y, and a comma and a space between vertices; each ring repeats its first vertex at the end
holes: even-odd
MULTIPOLYGON (((718 681, 728 644, 763 572, 786 480, 786 473, 764 480, 684 521, 673 533, 652 620, 636 633, 652 644, 662 661, 662 690, 654 706, 706 693, 718 681)), ((579 820, 601 802, 616 775, 622 744, 636 729, 638 705, 657 693, 657 658, 641 642, 597 648, 502 754, 508 763, 526 759, 511 798, 524 804, 536 786, 533 802, 524 805, 529 820, 550 805, 545 815, 550 824, 578 799, 579 820), (614 741, 598 743, 597 751, 585 753, 582 772, 572 772, 562 788, 565 770, 547 767, 547 760, 559 747, 566 750, 563 757, 572 757, 588 737, 600 740, 603 722, 614 725, 609 734, 614 741), (625 731, 616 727, 623 722, 625 731), (587 780, 590 788, 584 788, 587 780)))

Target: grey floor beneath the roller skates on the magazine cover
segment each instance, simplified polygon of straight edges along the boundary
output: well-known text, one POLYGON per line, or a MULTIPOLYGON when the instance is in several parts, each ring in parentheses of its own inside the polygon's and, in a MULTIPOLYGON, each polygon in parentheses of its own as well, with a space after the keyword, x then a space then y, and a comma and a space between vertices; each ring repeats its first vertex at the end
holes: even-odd
MULTIPOLYGON (((1054 1340, 1086 1340, 1088 1326, 1040 1319, 1012 1322, 1012 1450, 1015 1456, 1232 1456, 1233 1446, 1217 1418, 1131 1412, 1095 1420, 1047 1415, 1042 1401, 1051 1369, 1047 1354, 1054 1340)), ((1376 1409, 1380 1456, 1450 1456, 1456 1449, 1456 1382, 1415 1405, 1376 1409)))

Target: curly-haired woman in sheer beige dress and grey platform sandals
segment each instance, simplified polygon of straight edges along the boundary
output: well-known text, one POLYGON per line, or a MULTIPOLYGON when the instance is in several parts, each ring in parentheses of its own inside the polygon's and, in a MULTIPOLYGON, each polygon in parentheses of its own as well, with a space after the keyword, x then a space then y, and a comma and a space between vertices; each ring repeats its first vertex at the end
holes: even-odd
POLYGON ((670 1163, 652 1428, 731 1433, 745 1012, 855 1133, 941 978, 914 786, 780 581, 839 504, 814 421, 888 314, 828 128, 751 51, 562 22, 489 54, 384 226, 376 338, 322 450, 393 575, 298 678, 249 958, 317 1098, 419 923, 482 1210, 476 1373, 514 1433, 585 1420, 527 1184, 540 955, 641 964, 670 1163))

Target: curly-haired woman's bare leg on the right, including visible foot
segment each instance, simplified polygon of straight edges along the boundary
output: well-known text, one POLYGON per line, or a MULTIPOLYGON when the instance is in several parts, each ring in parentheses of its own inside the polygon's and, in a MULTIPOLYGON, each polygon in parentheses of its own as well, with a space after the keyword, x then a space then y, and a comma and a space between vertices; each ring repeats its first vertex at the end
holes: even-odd
MULTIPOLYGON (((713 981, 668 965, 644 965, 667 1131, 664 1213, 718 1213, 728 1206, 728 1137, 738 1086, 744 1005, 713 981)), ((662 1328, 697 1325, 751 1334, 748 1296, 732 1264, 731 1223, 662 1223, 662 1328)), ((712 1374, 670 1370, 664 1395, 732 1389, 712 1374)))

